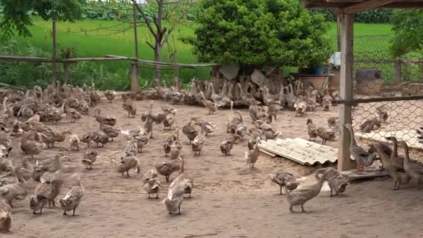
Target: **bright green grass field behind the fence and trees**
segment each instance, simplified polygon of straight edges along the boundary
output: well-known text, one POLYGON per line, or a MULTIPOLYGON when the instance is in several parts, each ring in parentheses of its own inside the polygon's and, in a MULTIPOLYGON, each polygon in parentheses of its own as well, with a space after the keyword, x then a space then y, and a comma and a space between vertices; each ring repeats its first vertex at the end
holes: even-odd
MULTIPOLYGON (((336 24, 330 22, 329 26, 330 29, 327 35, 333 39, 332 45, 335 51, 337 45, 336 24)), ((57 29, 59 49, 73 49, 75 52, 74 57, 99 57, 105 56, 106 54, 134 56, 134 32, 129 23, 122 24, 118 21, 104 20, 84 20, 75 23, 59 22, 57 24, 57 29)), ((35 19, 34 26, 31 27, 31 32, 33 33, 32 38, 21 40, 27 40, 31 45, 40 47, 45 51, 51 50, 51 22, 35 19)), ((192 34, 193 29, 190 26, 179 25, 170 38, 170 45, 177 50, 176 59, 178 63, 198 63, 197 59, 192 54, 191 46, 179 40, 182 36, 192 34)), ((354 48, 356 54, 358 54, 358 52, 364 52, 360 53, 358 55, 359 57, 391 57, 388 51, 390 35, 392 35, 391 26, 389 24, 355 24, 354 34, 354 48), (369 53, 366 54, 366 52, 369 53), (374 54, 374 52, 378 52, 378 54, 374 54)), ((150 32, 145 26, 139 26, 138 44, 140 58, 153 60, 153 51, 145 43, 146 41, 152 42, 150 32)), ((161 61, 170 62, 168 53, 168 47, 164 47, 161 61)), ((129 63, 127 61, 102 62, 97 63, 97 65, 102 65, 102 70, 112 73, 129 69, 129 63)), ((367 65, 360 65, 360 67, 367 67, 367 65)), ((288 74, 293 70, 296 70, 296 68, 285 68, 284 73, 288 74)), ((179 70, 179 78, 184 81, 192 77, 208 79, 209 71, 210 68, 179 70)), ((387 72, 391 74, 392 70, 389 68, 387 72)), ((141 68, 141 78, 150 80, 152 79, 152 75, 152 69, 141 68)), ((161 78, 163 79, 173 78, 173 75, 173 69, 161 71, 161 78)), ((77 81, 77 79, 74 80, 77 81)))

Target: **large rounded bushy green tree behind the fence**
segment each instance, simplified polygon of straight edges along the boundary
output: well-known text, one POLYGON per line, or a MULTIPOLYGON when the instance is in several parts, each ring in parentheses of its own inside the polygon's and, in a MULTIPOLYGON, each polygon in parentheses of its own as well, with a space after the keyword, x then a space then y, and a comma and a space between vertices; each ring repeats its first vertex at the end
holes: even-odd
POLYGON ((324 17, 300 1, 203 0, 195 22, 195 37, 183 40, 202 62, 318 66, 331 53, 324 17))

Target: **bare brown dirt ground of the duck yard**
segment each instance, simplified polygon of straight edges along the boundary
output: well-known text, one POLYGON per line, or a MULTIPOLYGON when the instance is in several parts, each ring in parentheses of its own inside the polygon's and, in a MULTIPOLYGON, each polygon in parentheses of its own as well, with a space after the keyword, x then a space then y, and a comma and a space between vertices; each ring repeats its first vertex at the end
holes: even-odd
MULTIPOLYGON (((138 114, 147 109, 148 102, 135 102, 138 114)), ((159 111, 165 102, 156 102, 159 111)), ((102 114, 118 118, 115 127, 133 129, 143 125, 139 117, 127 118, 121 108, 120 98, 113 104, 103 100, 99 104, 102 114)), ((144 148, 141 173, 131 171, 131 178, 124 179, 111 163, 120 157, 125 138, 116 138, 100 149, 101 158, 93 170, 83 169, 81 152, 65 152, 70 161, 66 166, 77 166, 83 171, 82 182, 86 194, 77 209, 77 216, 62 216, 60 209, 45 209, 42 215, 33 215, 29 209, 29 196, 17 201, 13 209, 12 231, 1 237, 422 237, 422 191, 414 184, 407 184, 399 191, 391 191, 389 178, 351 184, 342 196, 330 198, 322 191, 310 200, 305 214, 289 212, 285 196, 278 195, 278 186, 271 184, 269 175, 280 170, 296 175, 306 175, 312 168, 299 166, 292 161, 269 158, 262 154, 256 169, 246 166, 246 142, 234 145, 232 155, 224 156, 218 149, 225 136, 225 122, 232 112, 218 111, 206 116, 207 110, 197 106, 176 105, 177 126, 182 127, 193 116, 203 116, 214 122, 216 132, 207 137, 204 151, 193 156, 188 141, 182 134, 186 172, 195 182, 193 198, 184 200, 182 215, 169 215, 161 200, 166 196, 168 184, 160 177, 160 199, 147 199, 143 190, 143 174, 154 164, 165 161, 161 146, 163 128, 154 127, 155 139, 144 148), (190 236, 191 235, 191 236, 190 236)), ((250 125, 248 109, 240 109, 250 125)), ((93 109, 90 109, 90 113, 93 109)), ((306 118, 326 125, 329 116, 337 116, 337 107, 330 112, 317 111, 307 117, 296 118, 292 111, 282 111, 273 124, 282 137, 308 138, 306 118)), ((65 120, 54 127, 70 129, 82 135, 98 129, 91 116, 75 124, 65 120)), ((168 133, 168 132, 166 132, 168 133)), ((15 163, 25 155, 18 141, 11 154, 15 163)), ((63 143, 67 145, 67 143, 63 143)), ((337 142, 328 142, 337 146, 337 142)), ((67 145, 68 146, 68 145, 67 145)), ((58 152, 45 150, 37 159, 54 157, 58 152)), ((177 173, 172 175, 171 180, 177 173)), ((70 184, 63 187, 61 196, 70 184)), ((298 209, 298 208, 297 208, 298 209)))

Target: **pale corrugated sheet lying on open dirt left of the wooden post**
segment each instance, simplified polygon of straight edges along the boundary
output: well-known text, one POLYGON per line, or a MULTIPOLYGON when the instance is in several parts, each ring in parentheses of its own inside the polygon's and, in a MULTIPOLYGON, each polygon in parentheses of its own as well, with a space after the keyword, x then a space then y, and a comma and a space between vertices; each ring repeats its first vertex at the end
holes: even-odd
MULTIPOLYGON (((286 138, 276 141, 262 141, 260 150, 278 154, 291 159, 299 164, 312 166, 314 164, 335 163, 337 161, 337 148, 320 145, 302 138, 286 138)), ((351 158, 352 159, 352 158, 351 158)))

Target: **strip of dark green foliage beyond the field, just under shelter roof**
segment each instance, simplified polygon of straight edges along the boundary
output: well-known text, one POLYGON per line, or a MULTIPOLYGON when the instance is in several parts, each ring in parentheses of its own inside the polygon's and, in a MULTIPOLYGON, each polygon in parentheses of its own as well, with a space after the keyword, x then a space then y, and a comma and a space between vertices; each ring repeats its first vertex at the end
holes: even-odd
MULTIPOLYGON (((333 8, 312 9, 313 14, 324 15, 327 22, 336 22, 335 10, 333 8)), ((354 22, 360 23, 390 23, 393 15, 392 9, 372 9, 354 14, 354 22)))

